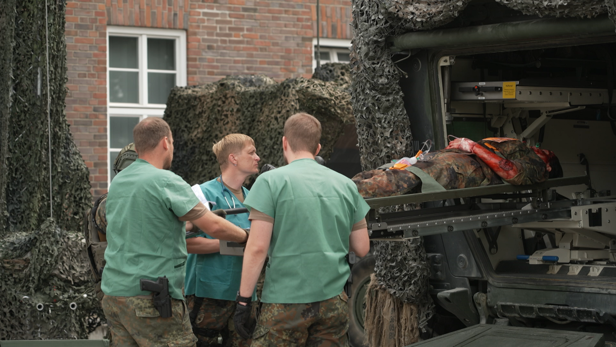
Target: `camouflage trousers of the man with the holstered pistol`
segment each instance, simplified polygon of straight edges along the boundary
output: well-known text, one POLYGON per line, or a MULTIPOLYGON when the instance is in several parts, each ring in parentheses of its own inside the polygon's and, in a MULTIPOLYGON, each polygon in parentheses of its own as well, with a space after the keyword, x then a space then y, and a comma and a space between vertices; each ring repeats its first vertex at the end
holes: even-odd
POLYGON ((152 296, 105 295, 102 306, 113 347, 193 347, 197 342, 183 300, 171 300, 168 318, 160 317, 152 296))

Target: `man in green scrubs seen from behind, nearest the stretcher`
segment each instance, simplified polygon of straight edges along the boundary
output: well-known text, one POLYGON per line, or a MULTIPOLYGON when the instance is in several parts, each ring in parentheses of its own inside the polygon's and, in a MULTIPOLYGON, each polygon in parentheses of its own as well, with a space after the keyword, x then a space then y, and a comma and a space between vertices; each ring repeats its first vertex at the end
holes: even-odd
POLYGON ((321 125, 306 113, 285 123, 288 165, 256 179, 244 205, 250 210, 235 327, 249 337, 250 296, 269 255, 261 314, 251 346, 347 346, 349 324, 345 256, 370 249, 370 208, 355 184, 319 165, 321 125))

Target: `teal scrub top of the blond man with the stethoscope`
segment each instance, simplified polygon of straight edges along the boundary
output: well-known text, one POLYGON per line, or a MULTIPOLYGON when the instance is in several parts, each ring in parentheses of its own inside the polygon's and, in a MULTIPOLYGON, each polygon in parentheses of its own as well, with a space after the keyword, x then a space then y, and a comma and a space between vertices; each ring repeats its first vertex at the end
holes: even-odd
MULTIPOLYGON (((200 185, 201 192, 209 202, 215 205, 214 210, 222 208, 244 208, 235 195, 221 182, 213 179, 200 185), (225 200, 225 197, 227 200, 225 200), (229 204, 227 203, 229 202, 229 204)), ((244 197, 248 195, 248 189, 242 187, 244 197)), ((248 213, 229 214, 227 221, 238 227, 249 228, 248 213)), ((205 235, 208 239, 214 239, 205 235)), ((235 301, 237 291, 240 290, 242 256, 221 255, 221 253, 189 254, 186 262, 186 295, 197 295, 201 298, 235 301)), ((256 300, 253 294, 253 300, 256 300)))

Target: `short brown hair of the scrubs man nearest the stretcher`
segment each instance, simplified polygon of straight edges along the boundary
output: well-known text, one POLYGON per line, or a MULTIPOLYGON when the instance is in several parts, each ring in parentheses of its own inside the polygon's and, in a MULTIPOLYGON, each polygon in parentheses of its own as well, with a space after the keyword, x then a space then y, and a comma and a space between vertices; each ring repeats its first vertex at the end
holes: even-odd
POLYGON ((285 137, 293 152, 316 153, 321 141, 321 123, 308 113, 296 113, 285 122, 285 137))

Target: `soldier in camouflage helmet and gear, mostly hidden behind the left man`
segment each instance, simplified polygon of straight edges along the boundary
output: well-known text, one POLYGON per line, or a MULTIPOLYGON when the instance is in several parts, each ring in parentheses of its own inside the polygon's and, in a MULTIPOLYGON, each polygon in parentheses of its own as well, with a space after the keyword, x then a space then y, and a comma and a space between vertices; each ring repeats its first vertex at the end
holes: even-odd
MULTIPOLYGON (((129 144, 124 147, 113 163, 113 171, 119 173, 127 168, 131 163, 137 160, 137 152, 135 145, 129 144)), ((94 202, 94 206, 86 211, 86 220, 84 221, 84 234, 86 236, 87 256, 90 259, 92 275, 96 281, 95 291, 96 296, 103 298, 103 292, 100 290, 100 279, 105 267, 105 248, 107 248, 107 216, 105 214, 105 204, 107 203, 107 194, 102 195, 94 202)))

